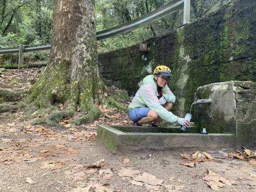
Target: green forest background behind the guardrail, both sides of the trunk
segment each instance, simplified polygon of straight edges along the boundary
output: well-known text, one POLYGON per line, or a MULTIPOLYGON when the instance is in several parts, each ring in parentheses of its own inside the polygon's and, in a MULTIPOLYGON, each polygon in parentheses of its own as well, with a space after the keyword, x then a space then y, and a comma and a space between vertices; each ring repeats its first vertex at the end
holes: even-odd
MULTIPOLYGON (((0 47, 51 42, 54 0, 0 0, 0 47)), ((191 3, 191 21, 217 10, 231 0, 197 0, 191 3)), ((141 17, 171 0, 96 0, 97 31, 141 17)), ((130 33, 98 41, 98 53, 130 46, 182 26, 183 11, 175 12, 130 33)), ((50 51, 25 54, 25 63, 46 62, 50 51)), ((13 65, 18 55, 0 56, 0 65, 13 65)))

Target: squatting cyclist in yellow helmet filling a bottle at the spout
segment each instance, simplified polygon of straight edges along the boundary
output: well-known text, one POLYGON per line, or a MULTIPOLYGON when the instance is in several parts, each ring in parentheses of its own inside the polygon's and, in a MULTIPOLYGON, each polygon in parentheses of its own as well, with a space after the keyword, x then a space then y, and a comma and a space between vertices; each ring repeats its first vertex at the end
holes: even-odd
POLYGON ((167 86, 172 77, 171 69, 167 66, 157 66, 153 75, 143 78, 143 84, 129 105, 129 117, 134 126, 151 123, 158 126, 163 119, 170 123, 179 123, 185 127, 189 121, 175 116, 171 112, 175 95, 167 86))

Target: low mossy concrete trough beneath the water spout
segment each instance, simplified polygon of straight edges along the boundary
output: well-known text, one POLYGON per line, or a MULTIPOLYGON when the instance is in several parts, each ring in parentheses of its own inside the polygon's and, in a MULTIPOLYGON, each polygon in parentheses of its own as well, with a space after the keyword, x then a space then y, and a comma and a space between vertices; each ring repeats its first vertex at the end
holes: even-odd
POLYGON ((109 126, 99 125, 97 143, 111 152, 125 150, 225 150, 235 148, 235 135, 229 133, 198 133, 196 127, 183 132, 179 127, 109 126))

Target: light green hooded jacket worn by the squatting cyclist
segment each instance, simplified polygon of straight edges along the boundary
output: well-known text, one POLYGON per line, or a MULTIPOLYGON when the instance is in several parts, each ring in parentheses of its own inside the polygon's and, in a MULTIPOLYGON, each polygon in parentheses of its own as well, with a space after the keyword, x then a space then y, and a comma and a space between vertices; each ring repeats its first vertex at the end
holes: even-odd
MULTIPOLYGON (((171 92, 167 85, 163 87, 162 95, 167 102, 175 102, 175 95, 171 92)), ((129 109, 148 107, 149 109, 156 111, 156 113, 165 121, 175 123, 178 117, 173 115, 172 112, 166 110, 158 102, 157 97, 158 92, 157 85, 154 81, 154 75, 148 75, 143 78, 143 84, 135 94, 135 97, 132 99, 132 102, 129 105, 129 109)))

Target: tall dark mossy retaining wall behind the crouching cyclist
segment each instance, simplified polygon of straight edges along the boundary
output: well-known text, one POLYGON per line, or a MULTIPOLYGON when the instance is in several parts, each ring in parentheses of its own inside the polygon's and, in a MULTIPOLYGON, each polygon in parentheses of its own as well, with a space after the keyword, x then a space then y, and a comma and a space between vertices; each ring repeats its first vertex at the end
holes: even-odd
POLYGON ((197 87, 215 83, 256 81, 256 1, 238 0, 209 16, 139 45, 99 55, 99 70, 110 85, 134 95, 141 79, 157 65, 174 77, 175 115, 189 111, 197 87))

